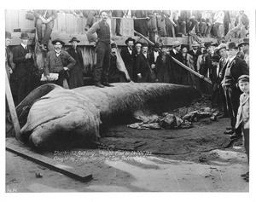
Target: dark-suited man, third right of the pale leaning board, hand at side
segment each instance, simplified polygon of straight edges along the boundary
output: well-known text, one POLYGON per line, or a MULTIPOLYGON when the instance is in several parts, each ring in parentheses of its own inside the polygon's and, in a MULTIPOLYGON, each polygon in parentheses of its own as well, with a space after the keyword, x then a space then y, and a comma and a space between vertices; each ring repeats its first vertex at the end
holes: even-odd
POLYGON ((143 43, 142 53, 136 58, 137 80, 139 83, 152 82, 150 77, 150 65, 148 59, 148 44, 143 43))

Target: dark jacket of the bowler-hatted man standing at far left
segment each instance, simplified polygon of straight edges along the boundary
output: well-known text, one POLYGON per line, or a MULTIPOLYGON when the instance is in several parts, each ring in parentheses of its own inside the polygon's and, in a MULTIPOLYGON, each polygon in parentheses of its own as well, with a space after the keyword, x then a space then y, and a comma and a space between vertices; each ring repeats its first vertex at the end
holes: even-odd
MULTIPOLYGON (((28 47, 30 49, 30 47, 28 47)), ((17 78, 22 78, 27 74, 31 74, 33 71, 34 61, 31 57, 30 59, 26 59, 25 55, 30 50, 26 50, 23 48, 23 46, 20 44, 15 47, 13 50, 14 58, 13 61, 15 63, 15 73, 17 78)))

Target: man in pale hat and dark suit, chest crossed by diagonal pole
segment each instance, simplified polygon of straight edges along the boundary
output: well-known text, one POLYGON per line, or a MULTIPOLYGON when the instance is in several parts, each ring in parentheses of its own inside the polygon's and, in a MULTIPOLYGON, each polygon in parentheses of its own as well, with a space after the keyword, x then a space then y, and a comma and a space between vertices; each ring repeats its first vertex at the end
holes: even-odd
MULTIPOLYGON (((182 62, 183 55, 180 52, 181 49, 181 43, 178 41, 175 41, 173 43, 172 50, 170 51, 170 55, 175 58, 177 61, 182 62)), ((172 61, 172 69, 169 70, 169 78, 170 78, 170 83, 171 84, 182 84, 182 75, 183 75, 183 70, 181 66, 179 66, 175 61, 172 61)))

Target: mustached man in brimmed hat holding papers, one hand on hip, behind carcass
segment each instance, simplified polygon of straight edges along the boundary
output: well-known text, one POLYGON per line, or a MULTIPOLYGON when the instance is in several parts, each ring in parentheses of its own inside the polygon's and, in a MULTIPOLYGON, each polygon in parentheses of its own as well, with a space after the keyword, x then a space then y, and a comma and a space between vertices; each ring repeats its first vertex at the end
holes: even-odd
POLYGON ((61 47, 65 44, 61 39, 56 38, 52 41, 52 44, 54 49, 50 50, 45 57, 44 76, 50 83, 63 87, 64 78, 67 77, 66 71, 70 70, 76 64, 76 61, 67 51, 61 50, 61 47), (49 73, 57 73, 58 79, 51 81, 49 73))

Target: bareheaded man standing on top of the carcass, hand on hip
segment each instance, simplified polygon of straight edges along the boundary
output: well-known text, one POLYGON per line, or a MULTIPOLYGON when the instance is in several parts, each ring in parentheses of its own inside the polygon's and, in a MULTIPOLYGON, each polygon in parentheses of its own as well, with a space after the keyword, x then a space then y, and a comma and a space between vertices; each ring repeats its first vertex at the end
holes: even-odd
POLYGON ((100 11, 101 20, 90 27, 86 33, 89 43, 96 43, 96 66, 94 69, 94 84, 97 87, 111 87, 108 84, 108 70, 110 64, 110 28, 107 23, 108 12, 100 11), (97 34, 95 38, 94 33, 97 34))

